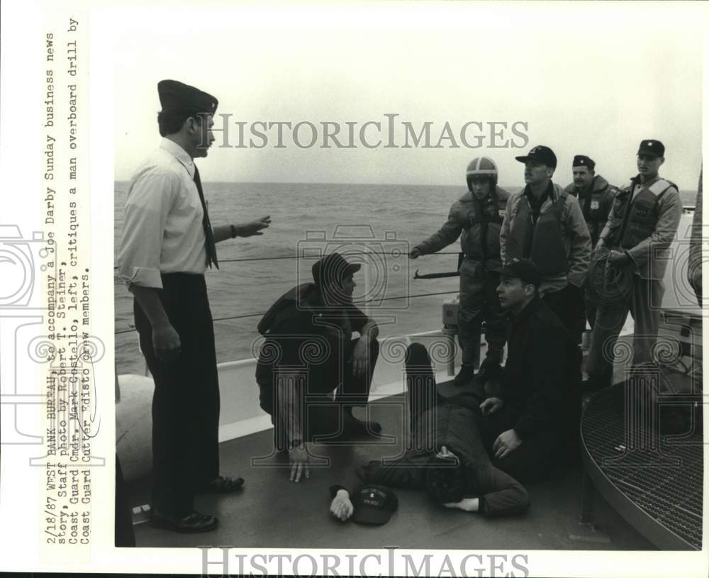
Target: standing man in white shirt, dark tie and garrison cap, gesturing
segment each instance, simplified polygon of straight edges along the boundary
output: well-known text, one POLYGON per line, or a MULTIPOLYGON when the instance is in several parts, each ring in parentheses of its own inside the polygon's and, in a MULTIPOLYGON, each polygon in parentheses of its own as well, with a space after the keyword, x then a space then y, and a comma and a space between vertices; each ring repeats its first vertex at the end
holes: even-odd
POLYGON ((130 181, 118 269, 135 298, 140 349, 155 380, 151 523, 206 532, 217 519, 194 510, 195 495, 235 491, 243 480, 219 474, 219 385, 204 272, 218 268, 215 243, 262 235, 270 218, 211 227, 193 159, 213 143, 217 99, 174 80, 157 91, 163 138, 130 181))

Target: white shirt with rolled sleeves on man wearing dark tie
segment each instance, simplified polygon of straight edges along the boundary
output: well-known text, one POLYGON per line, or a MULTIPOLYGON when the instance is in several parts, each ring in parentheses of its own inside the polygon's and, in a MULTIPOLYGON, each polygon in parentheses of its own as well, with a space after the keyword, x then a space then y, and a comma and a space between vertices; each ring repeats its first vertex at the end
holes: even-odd
POLYGON ((126 284, 162 289, 160 273, 205 272, 203 210, 194 169, 184 149, 163 138, 133 174, 118 252, 118 274, 126 284))

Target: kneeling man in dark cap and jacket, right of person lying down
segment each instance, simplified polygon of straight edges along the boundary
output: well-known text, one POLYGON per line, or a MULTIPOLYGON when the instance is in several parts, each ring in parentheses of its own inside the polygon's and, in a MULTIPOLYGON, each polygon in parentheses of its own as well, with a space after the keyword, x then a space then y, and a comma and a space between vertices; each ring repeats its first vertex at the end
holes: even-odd
POLYGON ((499 397, 481 404, 493 465, 520 480, 546 477, 571 462, 579 429, 581 351, 540 299, 534 262, 513 258, 498 295, 510 313, 508 354, 499 397))

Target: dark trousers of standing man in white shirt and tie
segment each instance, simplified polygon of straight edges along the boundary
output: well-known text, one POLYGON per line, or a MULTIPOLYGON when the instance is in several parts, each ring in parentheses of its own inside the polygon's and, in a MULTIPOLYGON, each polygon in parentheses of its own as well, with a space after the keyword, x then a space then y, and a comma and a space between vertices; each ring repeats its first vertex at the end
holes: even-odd
POLYGON ((162 275, 160 301, 179 334, 177 360, 163 363, 152 327, 135 301, 135 327, 155 381, 152 397, 152 506, 186 516, 196 487, 219 475, 219 384, 214 329, 203 275, 162 275))

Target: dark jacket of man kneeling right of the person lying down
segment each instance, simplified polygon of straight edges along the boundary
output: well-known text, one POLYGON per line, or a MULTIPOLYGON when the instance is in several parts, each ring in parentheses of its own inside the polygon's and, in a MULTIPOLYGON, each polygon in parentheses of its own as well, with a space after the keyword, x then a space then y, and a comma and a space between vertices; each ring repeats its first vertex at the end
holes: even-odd
POLYGON ((569 433, 578 423, 581 354, 562 321, 535 297, 512 316, 507 347, 501 398, 516 418, 517 435, 569 433))

